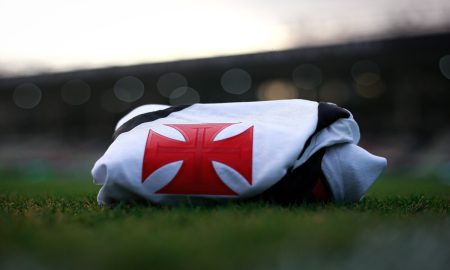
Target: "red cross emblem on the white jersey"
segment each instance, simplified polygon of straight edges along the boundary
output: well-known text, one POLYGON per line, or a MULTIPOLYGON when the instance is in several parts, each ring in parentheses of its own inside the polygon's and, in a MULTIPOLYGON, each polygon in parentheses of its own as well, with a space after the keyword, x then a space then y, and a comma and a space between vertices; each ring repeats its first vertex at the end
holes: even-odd
POLYGON ((150 129, 142 166, 142 183, 161 166, 183 163, 172 181, 156 191, 160 194, 238 195, 217 175, 212 161, 239 172, 252 184, 253 126, 244 132, 214 141, 217 134, 233 123, 168 124, 185 141, 163 136, 150 129))

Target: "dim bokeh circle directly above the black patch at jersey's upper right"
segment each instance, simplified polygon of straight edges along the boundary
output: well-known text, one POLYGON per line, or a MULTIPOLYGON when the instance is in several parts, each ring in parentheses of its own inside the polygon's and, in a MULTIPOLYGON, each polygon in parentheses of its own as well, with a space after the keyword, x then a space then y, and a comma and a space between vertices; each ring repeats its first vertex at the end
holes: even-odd
POLYGON ((350 97, 349 85, 341 80, 327 81, 319 90, 319 99, 321 101, 333 102, 337 105, 346 104, 350 97))

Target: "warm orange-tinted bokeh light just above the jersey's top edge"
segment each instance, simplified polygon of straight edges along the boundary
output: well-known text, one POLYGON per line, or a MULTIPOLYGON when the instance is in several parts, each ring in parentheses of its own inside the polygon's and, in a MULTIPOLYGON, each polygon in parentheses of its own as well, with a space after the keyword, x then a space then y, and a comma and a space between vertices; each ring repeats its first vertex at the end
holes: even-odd
POLYGON ((293 99, 298 98, 298 90, 290 81, 271 80, 258 87, 257 98, 259 100, 293 99))

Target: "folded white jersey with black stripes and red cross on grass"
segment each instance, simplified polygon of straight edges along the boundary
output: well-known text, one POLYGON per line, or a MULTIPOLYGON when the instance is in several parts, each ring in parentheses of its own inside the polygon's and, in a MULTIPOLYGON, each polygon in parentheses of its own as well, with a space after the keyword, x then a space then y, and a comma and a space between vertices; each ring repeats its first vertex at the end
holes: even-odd
POLYGON ((145 105, 116 126, 95 163, 99 204, 359 200, 386 166, 356 144, 331 103, 278 100, 145 105))

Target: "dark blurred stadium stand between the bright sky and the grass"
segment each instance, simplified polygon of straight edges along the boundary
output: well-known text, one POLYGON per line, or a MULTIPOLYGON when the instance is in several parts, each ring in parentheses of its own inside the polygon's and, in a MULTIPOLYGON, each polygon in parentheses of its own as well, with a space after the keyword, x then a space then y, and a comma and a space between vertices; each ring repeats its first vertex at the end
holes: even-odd
POLYGON ((89 169, 149 103, 304 98, 348 108, 390 170, 450 171, 450 33, 0 78, 0 164, 89 169))

